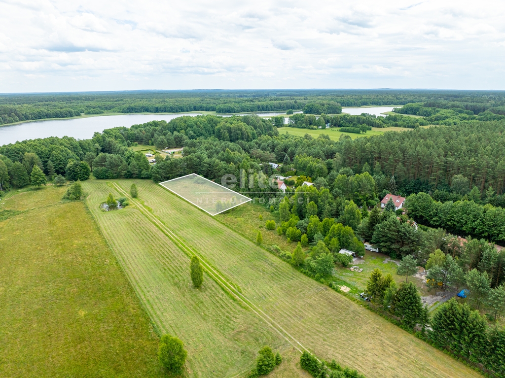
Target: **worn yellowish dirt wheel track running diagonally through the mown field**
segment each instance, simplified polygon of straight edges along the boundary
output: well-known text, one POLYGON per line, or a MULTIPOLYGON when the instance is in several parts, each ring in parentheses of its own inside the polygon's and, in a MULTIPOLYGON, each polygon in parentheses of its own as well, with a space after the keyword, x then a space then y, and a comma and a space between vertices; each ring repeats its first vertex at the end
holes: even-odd
MULTIPOLYGON (((129 195, 124 189, 122 189, 115 182, 112 183, 115 186, 115 189, 121 194, 125 195, 132 203, 134 203, 139 211, 147 218, 148 221, 153 223, 156 227, 158 227, 169 239, 171 239, 174 244, 186 255, 192 257, 193 255, 199 255, 196 251, 192 250, 188 247, 184 241, 181 240, 175 233, 173 233, 162 221, 160 221, 154 214, 151 214, 149 210, 145 209, 144 205, 141 204, 138 200, 135 200, 133 197, 129 195)), ((168 188, 166 188, 168 190, 168 188)), ((171 192, 171 191, 170 191, 171 192)), ((204 210, 205 211, 205 210, 204 210)), ((247 239, 246 239, 247 240, 247 239)), ((256 306, 254 303, 250 302, 245 295, 240 293, 237 289, 235 289, 234 284, 228 282, 221 275, 219 275, 214 268, 208 264, 205 259, 200 257, 200 262, 206 271, 206 273, 225 291, 234 296, 240 302, 242 302, 246 307, 248 307, 252 312, 258 315, 263 321, 265 321, 272 329, 274 329, 279 335, 281 335, 289 344, 293 346, 298 352, 302 353, 302 350, 310 352, 305 346, 303 346, 298 340, 296 340, 293 336, 291 336, 286 330, 284 330, 281 326, 279 326, 275 320, 273 320, 269 315, 267 315, 261 308, 256 306), (282 332, 281 332, 282 331, 282 332), (287 337, 286 337, 287 335, 287 337), (291 339, 291 340, 290 340, 291 339), (301 348, 298 348, 298 346, 301 348)))

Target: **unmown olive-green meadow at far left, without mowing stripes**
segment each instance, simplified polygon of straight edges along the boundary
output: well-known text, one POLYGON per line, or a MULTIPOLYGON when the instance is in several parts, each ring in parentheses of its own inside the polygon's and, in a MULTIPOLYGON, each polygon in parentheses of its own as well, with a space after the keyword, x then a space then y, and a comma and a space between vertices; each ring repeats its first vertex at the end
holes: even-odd
POLYGON ((166 376, 147 314, 84 204, 60 202, 66 190, 0 204, 0 376, 166 376))

